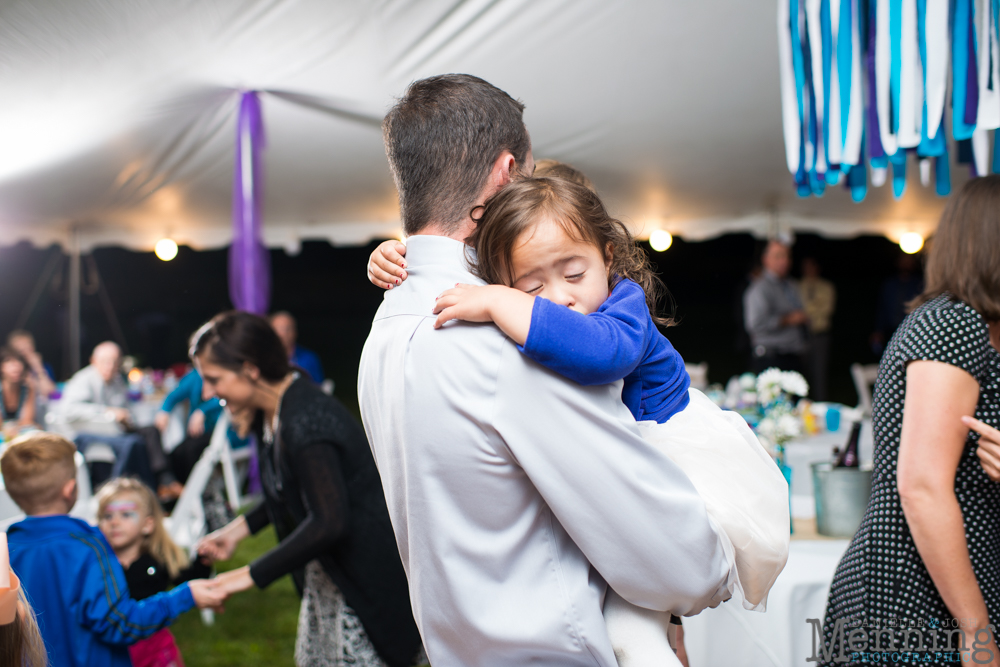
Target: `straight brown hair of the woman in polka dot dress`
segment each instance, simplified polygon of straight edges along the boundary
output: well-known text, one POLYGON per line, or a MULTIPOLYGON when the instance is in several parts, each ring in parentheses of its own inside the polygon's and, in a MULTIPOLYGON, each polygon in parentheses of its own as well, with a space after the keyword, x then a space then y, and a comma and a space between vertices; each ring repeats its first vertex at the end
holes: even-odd
POLYGON ((1000 321, 1000 175, 969 181, 948 200, 930 244, 915 308, 945 292, 1000 321))

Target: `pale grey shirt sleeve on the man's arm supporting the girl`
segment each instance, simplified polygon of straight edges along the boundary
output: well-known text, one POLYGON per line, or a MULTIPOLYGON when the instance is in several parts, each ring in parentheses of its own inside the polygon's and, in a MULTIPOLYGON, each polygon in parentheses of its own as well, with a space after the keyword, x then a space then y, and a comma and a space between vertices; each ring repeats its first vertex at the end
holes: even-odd
POLYGON ((505 345, 494 427, 590 563, 632 604, 691 615, 728 597, 722 542, 687 476, 640 436, 621 382, 581 387, 505 345))

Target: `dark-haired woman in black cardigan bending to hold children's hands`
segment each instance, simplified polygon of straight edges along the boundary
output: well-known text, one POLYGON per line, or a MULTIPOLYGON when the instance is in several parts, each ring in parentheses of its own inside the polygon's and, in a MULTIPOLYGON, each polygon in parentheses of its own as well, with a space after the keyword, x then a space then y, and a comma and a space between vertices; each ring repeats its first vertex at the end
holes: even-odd
POLYGON ((208 535, 199 552, 227 559, 241 539, 273 524, 280 544, 220 579, 235 592, 293 575, 303 594, 297 664, 414 664, 420 636, 361 426, 289 367, 260 317, 216 316, 195 333, 191 356, 205 391, 257 436, 264 486, 264 502, 208 535))

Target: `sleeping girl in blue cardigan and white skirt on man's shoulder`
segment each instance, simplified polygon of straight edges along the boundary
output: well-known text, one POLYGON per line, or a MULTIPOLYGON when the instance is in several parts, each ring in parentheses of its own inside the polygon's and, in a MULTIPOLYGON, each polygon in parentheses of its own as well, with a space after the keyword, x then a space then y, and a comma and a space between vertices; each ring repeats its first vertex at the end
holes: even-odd
MULTIPOLYGON (((763 610, 788 555, 788 486, 746 422, 690 387, 684 360, 656 327, 672 321, 655 316, 663 287, 645 253, 596 193, 569 180, 518 181, 477 209, 469 263, 489 284, 442 293, 435 327, 493 322, 566 378, 624 380, 622 401, 643 438, 684 470, 727 549, 731 542, 732 590, 763 610)), ((609 590, 605 617, 619 664, 653 664, 640 659, 662 648, 642 630, 650 614, 609 590)))

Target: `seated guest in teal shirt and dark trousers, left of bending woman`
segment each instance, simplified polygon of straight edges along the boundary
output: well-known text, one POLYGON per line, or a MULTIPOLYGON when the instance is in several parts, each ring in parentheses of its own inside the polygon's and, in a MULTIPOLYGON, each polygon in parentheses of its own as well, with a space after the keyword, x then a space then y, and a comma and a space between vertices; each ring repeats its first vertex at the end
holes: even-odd
POLYGON ((167 430, 170 412, 183 401, 187 401, 188 404, 185 438, 167 455, 174 476, 181 484, 187 482, 194 464, 212 441, 212 431, 215 430, 215 424, 222 414, 218 398, 213 397, 207 401, 203 398, 201 375, 197 370, 192 370, 181 378, 172 392, 167 394, 160 411, 156 413, 156 427, 161 433, 167 430))

